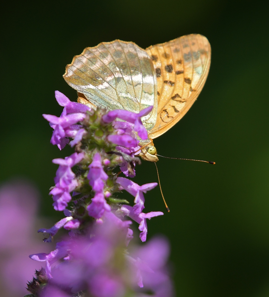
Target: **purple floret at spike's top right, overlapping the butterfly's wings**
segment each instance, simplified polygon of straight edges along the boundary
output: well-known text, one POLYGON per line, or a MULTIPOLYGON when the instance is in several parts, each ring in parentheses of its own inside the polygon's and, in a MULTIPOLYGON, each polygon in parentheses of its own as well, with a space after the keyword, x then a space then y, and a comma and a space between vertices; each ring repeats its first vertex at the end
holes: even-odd
POLYGON ((103 121, 105 123, 111 123, 116 118, 128 121, 134 124, 134 130, 137 132, 138 136, 141 139, 147 139, 148 133, 144 125, 142 124, 141 117, 148 115, 152 111, 153 106, 149 106, 140 111, 140 113, 133 113, 131 111, 115 109, 109 111, 106 115, 103 116, 103 121))

